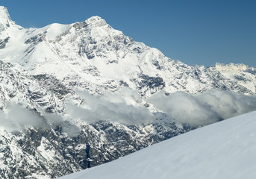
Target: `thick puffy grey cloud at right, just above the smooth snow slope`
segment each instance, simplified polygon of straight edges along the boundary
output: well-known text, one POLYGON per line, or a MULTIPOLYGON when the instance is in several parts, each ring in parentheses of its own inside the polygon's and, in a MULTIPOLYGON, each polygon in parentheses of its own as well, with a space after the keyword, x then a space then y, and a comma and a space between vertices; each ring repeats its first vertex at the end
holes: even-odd
POLYGON ((209 125, 256 110, 256 96, 228 91, 208 91, 197 95, 158 92, 148 101, 178 122, 209 125))

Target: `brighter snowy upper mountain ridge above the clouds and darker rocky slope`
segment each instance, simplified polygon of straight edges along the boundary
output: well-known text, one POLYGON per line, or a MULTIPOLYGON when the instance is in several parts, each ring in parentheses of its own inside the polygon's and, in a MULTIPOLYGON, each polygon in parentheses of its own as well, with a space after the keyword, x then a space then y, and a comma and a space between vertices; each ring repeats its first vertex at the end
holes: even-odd
POLYGON ((11 21, 4 7, 1 9, 1 60, 17 63, 31 75, 53 75, 63 84, 87 87, 94 93, 100 93, 101 87, 116 91, 122 84, 145 97, 158 90, 256 92, 251 79, 254 68, 228 69, 231 73, 243 72, 238 76, 245 74, 249 84, 237 83, 241 79, 226 76, 219 63, 216 68, 187 66, 156 48, 134 42, 99 16, 72 25, 25 29, 11 21))

